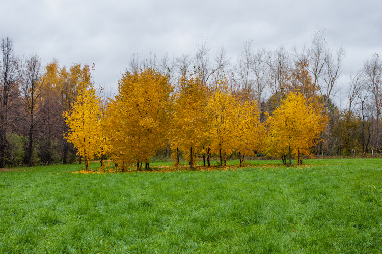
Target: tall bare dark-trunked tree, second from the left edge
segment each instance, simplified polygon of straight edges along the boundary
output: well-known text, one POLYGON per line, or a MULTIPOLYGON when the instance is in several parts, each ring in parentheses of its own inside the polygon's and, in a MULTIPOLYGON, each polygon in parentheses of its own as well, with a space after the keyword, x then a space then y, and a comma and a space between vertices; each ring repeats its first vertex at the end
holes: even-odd
POLYGON ((39 103, 42 95, 41 60, 33 54, 27 59, 20 70, 21 98, 26 121, 28 122, 28 149, 25 154, 25 163, 33 166, 33 141, 36 132, 35 126, 39 122, 39 103))

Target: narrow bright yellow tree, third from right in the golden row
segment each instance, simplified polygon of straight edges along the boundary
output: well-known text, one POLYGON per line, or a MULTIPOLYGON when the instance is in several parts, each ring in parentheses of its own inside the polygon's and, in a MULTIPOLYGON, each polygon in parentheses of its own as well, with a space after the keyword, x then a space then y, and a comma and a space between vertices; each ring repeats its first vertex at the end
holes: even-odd
POLYGON ((233 150, 233 125, 235 97, 229 88, 227 79, 217 80, 216 86, 208 100, 208 108, 212 114, 211 152, 219 154, 220 165, 226 165, 227 155, 233 150))

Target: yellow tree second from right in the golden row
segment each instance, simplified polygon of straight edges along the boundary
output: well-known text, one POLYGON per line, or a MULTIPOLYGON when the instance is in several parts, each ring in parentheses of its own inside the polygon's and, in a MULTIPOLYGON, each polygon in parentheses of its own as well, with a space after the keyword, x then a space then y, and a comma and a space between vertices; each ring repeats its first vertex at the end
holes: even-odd
POLYGON ((239 153, 240 166, 242 166, 244 157, 255 155, 254 151, 260 151, 262 144, 264 127, 260 123, 257 102, 242 102, 236 99, 233 118, 233 147, 239 153))

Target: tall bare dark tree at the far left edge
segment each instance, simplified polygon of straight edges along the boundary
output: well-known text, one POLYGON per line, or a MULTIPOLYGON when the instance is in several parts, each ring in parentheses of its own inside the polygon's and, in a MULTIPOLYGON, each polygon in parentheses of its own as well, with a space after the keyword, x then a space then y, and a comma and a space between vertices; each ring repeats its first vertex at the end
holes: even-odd
POLYGON ((2 38, 0 79, 0 168, 4 167, 7 132, 11 123, 10 110, 18 95, 18 60, 13 52, 13 41, 2 38))

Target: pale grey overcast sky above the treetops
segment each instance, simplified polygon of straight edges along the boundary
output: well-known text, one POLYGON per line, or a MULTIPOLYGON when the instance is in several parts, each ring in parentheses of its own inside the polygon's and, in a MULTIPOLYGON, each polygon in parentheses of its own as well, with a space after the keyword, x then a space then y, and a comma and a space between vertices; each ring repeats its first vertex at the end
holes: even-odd
POLYGON ((376 0, 0 0, 0 10, 0 35, 11 37, 18 53, 38 53, 44 64, 95 63, 103 87, 117 87, 133 54, 193 54, 204 40, 212 50, 224 46, 234 63, 248 39, 255 49, 289 49, 325 31, 332 49, 346 49, 342 86, 363 61, 382 54, 376 0))

